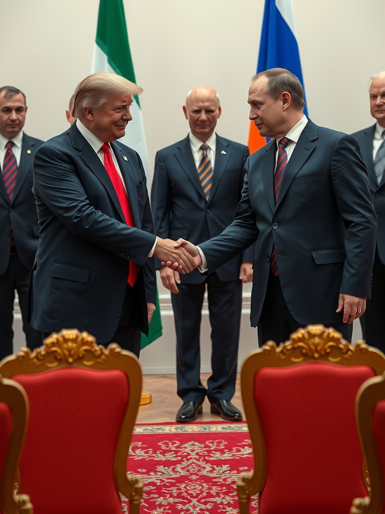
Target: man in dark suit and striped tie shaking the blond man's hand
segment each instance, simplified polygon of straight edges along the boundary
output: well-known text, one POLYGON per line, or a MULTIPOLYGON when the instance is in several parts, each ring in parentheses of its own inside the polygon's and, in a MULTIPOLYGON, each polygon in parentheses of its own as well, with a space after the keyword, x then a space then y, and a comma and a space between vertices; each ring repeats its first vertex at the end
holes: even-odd
POLYGON ((211 272, 256 241, 251 323, 260 343, 285 341, 309 323, 350 339, 370 298, 376 238, 358 143, 307 120, 302 86, 287 70, 256 75, 248 103, 272 141, 246 163, 236 217, 198 255, 177 245, 211 272))

